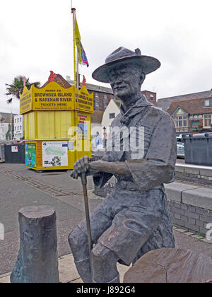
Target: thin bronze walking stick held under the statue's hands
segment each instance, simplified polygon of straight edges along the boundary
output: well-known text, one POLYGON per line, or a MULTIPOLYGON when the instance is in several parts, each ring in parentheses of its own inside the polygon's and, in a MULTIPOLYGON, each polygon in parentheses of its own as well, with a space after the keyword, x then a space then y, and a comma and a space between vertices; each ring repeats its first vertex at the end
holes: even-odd
POLYGON ((88 249, 90 256, 90 269, 91 269, 91 277, 93 279, 93 269, 92 269, 92 258, 91 258, 91 250, 92 250, 92 239, 91 239, 91 231, 90 231, 90 215, 89 215, 89 206, 88 206, 88 191, 87 191, 87 177, 86 173, 81 174, 81 182, 83 185, 83 194, 84 194, 84 202, 85 202, 85 210, 86 210, 86 225, 88 232, 88 249))

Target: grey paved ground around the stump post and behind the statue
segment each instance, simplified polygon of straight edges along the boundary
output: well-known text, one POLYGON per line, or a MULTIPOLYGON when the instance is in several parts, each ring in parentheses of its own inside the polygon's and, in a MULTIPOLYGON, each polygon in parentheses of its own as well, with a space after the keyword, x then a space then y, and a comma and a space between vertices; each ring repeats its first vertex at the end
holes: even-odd
MULTIPOLYGON (((90 210, 102 201, 93 194, 93 181, 88 178, 90 210)), ((84 202, 81 180, 72 180, 69 172, 37 173, 23 164, 0 163, 0 223, 5 240, 0 240, 0 275, 11 272, 19 248, 18 210, 29 205, 51 205, 57 211, 59 256, 70 253, 67 237, 82 221, 84 202)), ((175 231, 177 248, 204 252, 212 258, 212 245, 175 231)))

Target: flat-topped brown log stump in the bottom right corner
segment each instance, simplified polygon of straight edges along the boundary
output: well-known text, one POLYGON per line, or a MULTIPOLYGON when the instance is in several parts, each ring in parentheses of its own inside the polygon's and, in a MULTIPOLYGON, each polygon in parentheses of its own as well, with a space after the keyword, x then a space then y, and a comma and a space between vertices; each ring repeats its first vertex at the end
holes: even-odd
POLYGON ((124 274, 124 283, 208 282, 212 282, 211 258, 177 248, 152 250, 124 274))

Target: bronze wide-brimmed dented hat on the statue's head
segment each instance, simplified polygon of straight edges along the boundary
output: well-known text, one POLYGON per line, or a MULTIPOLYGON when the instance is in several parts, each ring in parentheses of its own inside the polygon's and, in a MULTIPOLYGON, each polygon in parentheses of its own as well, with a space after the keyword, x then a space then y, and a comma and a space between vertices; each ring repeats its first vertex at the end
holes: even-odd
POLYGON ((125 47, 119 47, 106 58, 104 65, 93 71, 92 77, 96 81, 110 83, 110 71, 122 64, 139 65, 145 74, 150 74, 160 67, 158 59, 143 56, 139 49, 136 49, 135 52, 133 52, 125 47))

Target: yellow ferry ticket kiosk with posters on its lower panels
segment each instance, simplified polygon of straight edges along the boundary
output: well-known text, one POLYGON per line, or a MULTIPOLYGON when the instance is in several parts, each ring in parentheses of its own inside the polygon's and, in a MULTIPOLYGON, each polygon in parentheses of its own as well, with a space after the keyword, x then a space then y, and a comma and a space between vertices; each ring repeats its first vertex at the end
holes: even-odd
MULTIPOLYGON (((64 79, 64 78, 63 78, 64 79)), ((25 86, 20 94, 24 115, 25 166, 35 170, 73 169, 91 156, 90 113, 93 93, 86 86, 64 88, 56 81, 42 88, 25 86)))

